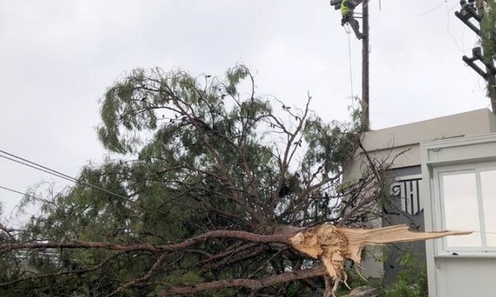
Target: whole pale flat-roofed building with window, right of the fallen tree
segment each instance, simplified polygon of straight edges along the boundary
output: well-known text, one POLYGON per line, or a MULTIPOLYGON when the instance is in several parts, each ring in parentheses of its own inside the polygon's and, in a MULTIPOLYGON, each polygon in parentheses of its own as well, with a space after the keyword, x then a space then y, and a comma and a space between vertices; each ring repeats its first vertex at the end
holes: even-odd
MULTIPOLYGON (((409 246, 426 259, 429 296, 496 296, 496 116, 479 109, 370 131, 363 144, 378 159, 404 152, 391 169, 391 196, 421 230, 474 231, 409 246)), ((360 177, 362 157, 345 179, 360 177)), ((384 262, 365 260, 362 274, 394 278, 400 253, 390 250, 384 262)))

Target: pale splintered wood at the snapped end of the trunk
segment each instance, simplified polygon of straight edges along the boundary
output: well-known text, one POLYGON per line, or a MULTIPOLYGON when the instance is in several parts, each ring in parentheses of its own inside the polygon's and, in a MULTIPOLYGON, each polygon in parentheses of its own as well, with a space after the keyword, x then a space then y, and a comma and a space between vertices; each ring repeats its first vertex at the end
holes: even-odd
POLYGON ((350 259, 360 265, 362 249, 365 245, 402 243, 437 239, 448 235, 464 235, 472 232, 442 231, 414 232, 407 225, 393 225, 377 229, 342 228, 324 223, 298 232, 291 237, 291 245, 296 250, 320 259, 324 263, 334 285, 332 294, 340 281, 346 284, 344 260, 350 259))

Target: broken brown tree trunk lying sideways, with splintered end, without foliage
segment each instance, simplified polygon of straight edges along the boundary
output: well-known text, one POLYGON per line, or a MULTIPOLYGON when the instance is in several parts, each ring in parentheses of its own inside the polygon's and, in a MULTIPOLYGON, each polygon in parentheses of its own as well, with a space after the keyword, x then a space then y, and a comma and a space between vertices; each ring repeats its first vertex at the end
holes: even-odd
MULTIPOLYGON (((346 284, 347 275, 344 272, 344 260, 351 259, 360 264, 360 253, 365 245, 382 245, 386 243, 400 243, 407 241, 420 241, 436 239, 448 235, 470 234, 471 232, 413 232, 406 225, 395 225, 386 228, 362 229, 344 228, 324 223, 312 228, 296 228, 291 226, 281 227, 274 234, 256 234, 236 230, 213 230, 199 234, 180 243, 169 245, 149 244, 127 244, 119 245, 103 242, 73 241, 73 242, 34 242, 34 243, 2 243, 0 251, 9 252, 14 250, 37 250, 47 248, 64 249, 103 249, 119 252, 149 252, 152 254, 164 254, 177 250, 184 250, 200 241, 218 238, 238 239, 251 243, 280 243, 290 245, 292 248, 306 254, 313 259, 319 259, 324 267, 313 267, 291 272, 284 272, 262 279, 238 278, 223 281, 212 281, 183 287, 170 286, 158 294, 158 296, 195 294, 213 289, 226 289, 228 287, 246 287, 258 290, 279 283, 297 281, 316 276, 324 276, 326 291, 325 297, 333 296, 340 282, 346 284), (325 269, 324 269, 325 268, 325 269)), ((156 263, 161 263, 159 257, 156 263)), ((152 270, 150 270, 152 271, 152 270)), ((41 276, 43 277, 43 276, 41 276)), ((19 280, 14 280, 18 282, 19 280)), ((21 278, 22 281, 22 278, 21 278)), ((0 283, 9 285, 12 282, 0 283)), ((130 282, 134 284, 133 282, 130 282)))

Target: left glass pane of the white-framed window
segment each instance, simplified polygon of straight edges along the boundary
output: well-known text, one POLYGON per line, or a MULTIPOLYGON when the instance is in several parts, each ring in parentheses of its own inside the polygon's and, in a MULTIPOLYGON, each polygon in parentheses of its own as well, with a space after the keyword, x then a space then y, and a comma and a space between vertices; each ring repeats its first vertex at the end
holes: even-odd
POLYGON ((464 236, 448 236, 448 247, 479 247, 479 206, 475 173, 442 176, 444 220, 447 230, 473 231, 464 236))

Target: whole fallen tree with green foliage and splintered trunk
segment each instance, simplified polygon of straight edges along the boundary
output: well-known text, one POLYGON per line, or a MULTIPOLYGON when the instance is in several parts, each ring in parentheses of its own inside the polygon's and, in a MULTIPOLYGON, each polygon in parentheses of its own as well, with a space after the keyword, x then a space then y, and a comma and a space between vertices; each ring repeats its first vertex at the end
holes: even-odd
POLYGON ((98 133, 122 159, 90 164, 65 192, 26 197, 41 214, 19 231, 2 228, 0 293, 304 296, 323 288, 331 296, 346 281, 344 261, 359 264, 364 245, 463 234, 357 228, 381 215, 391 159, 369 158, 360 179, 344 182, 361 149, 360 115, 326 124, 310 101, 294 110, 257 96, 244 66, 224 80, 161 69, 117 80, 98 133), (242 81, 247 91, 238 91, 242 81))

